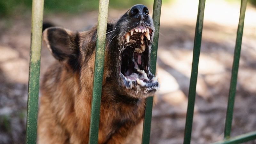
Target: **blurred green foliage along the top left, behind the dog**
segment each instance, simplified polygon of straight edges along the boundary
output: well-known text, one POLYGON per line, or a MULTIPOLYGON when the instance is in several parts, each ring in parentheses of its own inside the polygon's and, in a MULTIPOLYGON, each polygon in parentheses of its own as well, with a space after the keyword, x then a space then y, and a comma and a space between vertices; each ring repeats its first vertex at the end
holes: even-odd
MULTIPOLYGON (((172 0, 163 0, 163 3, 172 0)), ((153 0, 109 0, 109 8, 127 9, 135 4, 145 4, 153 7, 153 0)), ((20 16, 31 11, 32 0, 0 0, 0 17, 20 16)), ((44 12, 51 13, 78 13, 97 10, 99 0, 44 0, 44 12)))

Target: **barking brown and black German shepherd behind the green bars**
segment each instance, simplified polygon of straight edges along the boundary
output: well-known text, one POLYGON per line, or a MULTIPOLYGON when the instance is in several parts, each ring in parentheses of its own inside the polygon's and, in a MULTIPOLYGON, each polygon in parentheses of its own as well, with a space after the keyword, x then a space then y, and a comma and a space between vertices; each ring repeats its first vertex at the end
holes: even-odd
MULTIPOLYGON (((150 73, 155 28, 144 5, 107 24, 98 143, 140 143, 145 99, 159 88, 150 73)), ((73 32, 46 28, 43 39, 57 59, 41 84, 39 144, 88 143, 97 27, 73 32)))

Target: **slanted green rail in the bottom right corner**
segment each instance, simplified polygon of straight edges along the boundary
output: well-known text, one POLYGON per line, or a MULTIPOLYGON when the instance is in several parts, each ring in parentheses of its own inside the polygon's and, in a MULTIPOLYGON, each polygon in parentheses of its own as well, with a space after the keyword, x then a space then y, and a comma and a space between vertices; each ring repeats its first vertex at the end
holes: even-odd
POLYGON ((231 138, 228 140, 218 141, 213 144, 236 144, 236 143, 243 143, 243 142, 247 142, 247 141, 255 140, 255 139, 256 139, 256 131, 245 133, 245 134, 239 135, 237 137, 234 137, 234 138, 231 138))

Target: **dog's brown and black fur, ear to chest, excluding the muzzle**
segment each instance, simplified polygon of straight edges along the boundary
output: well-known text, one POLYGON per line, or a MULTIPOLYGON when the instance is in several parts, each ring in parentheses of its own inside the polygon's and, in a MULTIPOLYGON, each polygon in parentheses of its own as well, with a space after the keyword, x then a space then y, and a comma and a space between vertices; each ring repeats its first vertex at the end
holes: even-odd
MULTIPOLYGON (((57 27, 44 31, 44 41, 59 61, 48 68, 41 84, 39 144, 88 143, 96 31, 96 27, 79 33, 57 27)), ((145 98, 114 89, 110 51, 106 48, 98 143, 141 143, 145 98)))

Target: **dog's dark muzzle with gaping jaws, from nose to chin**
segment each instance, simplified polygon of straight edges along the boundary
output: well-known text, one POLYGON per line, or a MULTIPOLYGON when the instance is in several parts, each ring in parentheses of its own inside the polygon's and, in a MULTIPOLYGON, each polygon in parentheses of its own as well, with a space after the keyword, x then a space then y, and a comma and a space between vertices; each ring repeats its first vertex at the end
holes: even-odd
POLYGON ((158 89, 157 77, 149 70, 154 25, 144 5, 134 5, 112 28, 108 27, 106 52, 109 69, 119 93, 134 98, 152 96, 158 89))

